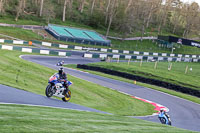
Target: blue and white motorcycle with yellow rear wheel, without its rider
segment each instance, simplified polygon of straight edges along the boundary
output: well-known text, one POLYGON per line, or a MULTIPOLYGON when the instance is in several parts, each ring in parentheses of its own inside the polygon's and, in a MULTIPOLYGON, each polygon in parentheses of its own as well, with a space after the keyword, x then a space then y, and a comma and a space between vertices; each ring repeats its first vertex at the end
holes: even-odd
POLYGON ((72 82, 66 81, 67 87, 64 87, 64 81, 58 81, 58 77, 58 74, 54 74, 49 78, 49 84, 46 87, 45 94, 47 97, 61 97, 64 102, 68 102, 71 99, 69 86, 72 85, 72 82))

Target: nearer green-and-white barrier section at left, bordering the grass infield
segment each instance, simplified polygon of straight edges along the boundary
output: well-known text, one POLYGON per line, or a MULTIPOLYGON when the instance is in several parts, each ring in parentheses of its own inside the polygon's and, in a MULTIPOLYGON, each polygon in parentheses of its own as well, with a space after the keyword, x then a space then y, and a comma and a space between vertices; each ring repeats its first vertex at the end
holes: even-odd
POLYGON ((1 45, 1 44, 0 44, 0 49, 16 50, 16 51, 21 51, 21 52, 38 53, 38 54, 44 54, 44 55, 71 56, 70 52, 60 52, 60 51, 55 51, 55 50, 43 50, 43 49, 37 49, 37 48, 18 47, 18 46, 1 45))

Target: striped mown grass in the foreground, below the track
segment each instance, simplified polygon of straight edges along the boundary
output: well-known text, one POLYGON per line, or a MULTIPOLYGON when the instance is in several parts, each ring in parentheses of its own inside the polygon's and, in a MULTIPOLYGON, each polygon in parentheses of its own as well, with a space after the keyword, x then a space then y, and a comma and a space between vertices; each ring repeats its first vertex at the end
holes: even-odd
POLYGON ((0 132, 192 133, 144 120, 93 112, 0 104, 0 132))

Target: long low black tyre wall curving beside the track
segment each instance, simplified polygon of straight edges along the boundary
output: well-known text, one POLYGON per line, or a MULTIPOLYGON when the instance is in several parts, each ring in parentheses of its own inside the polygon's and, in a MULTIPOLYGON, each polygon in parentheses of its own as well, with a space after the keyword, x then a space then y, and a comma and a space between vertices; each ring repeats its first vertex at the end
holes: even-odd
POLYGON ((123 78, 126 78, 126 79, 136 80, 136 81, 139 81, 139 82, 164 87, 164 88, 167 88, 167 89, 179 91, 179 92, 186 93, 186 94, 200 98, 200 91, 199 90, 175 85, 175 84, 172 84, 172 83, 168 83, 168 82, 164 82, 164 81, 160 81, 160 80, 156 80, 156 79, 145 78, 145 77, 136 76, 136 75, 132 75, 132 74, 125 73, 125 72, 119 72, 119 71, 110 70, 110 69, 106 69, 106 68, 88 66, 88 65, 81 65, 81 64, 78 64, 77 68, 103 72, 103 73, 106 73, 106 74, 115 75, 115 76, 123 77, 123 78))

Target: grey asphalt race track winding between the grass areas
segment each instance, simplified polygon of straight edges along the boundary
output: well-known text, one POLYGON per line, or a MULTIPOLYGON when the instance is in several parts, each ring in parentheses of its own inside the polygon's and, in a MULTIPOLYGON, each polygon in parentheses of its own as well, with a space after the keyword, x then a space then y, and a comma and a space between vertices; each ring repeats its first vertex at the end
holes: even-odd
MULTIPOLYGON (((52 56, 22 56, 21 58, 56 70, 59 67, 55 64, 60 60, 64 60, 65 64, 86 64, 100 61, 99 59, 82 58, 80 54, 72 54, 72 56, 68 58, 52 56)), ((164 105, 169 108, 168 114, 171 116, 173 126, 193 131, 200 131, 200 104, 196 104, 149 88, 89 74, 82 71, 65 68, 65 72, 72 76, 164 105)), ((0 96, 0 102, 4 103, 33 104, 106 113, 70 102, 65 103, 61 100, 46 98, 45 96, 36 95, 30 92, 2 85, 0 85, 0 96), (8 98, 11 95, 12 99, 8 98)), ((159 122, 157 116, 136 118, 152 122, 159 122)))

